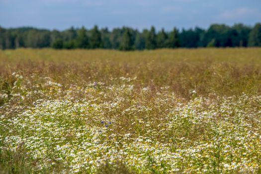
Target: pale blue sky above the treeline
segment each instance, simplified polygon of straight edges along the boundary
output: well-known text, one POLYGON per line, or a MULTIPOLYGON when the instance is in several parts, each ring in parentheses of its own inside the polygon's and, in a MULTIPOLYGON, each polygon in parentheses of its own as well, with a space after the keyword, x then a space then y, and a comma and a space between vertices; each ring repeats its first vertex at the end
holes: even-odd
POLYGON ((261 22, 261 0, 0 0, 0 26, 67 29, 131 26, 171 30, 261 22))

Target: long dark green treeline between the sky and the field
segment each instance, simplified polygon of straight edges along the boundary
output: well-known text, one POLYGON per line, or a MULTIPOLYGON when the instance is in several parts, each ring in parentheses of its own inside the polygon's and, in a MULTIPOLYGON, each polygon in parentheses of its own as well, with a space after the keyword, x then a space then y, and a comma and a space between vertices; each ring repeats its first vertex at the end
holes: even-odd
POLYGON ((156 32, 155 27, 140 32, 129 27, 99 29, 96 25, 64 31, 36 29, 32 27, 0 27, 0 49, 45 48, 55 49, 118 49, 143 50, 157 48, 197 48, 197 47, 248 47, 261 46, 261 23, 254 27, 235 24, 212 24, 208 29, 174 28, 156 32))

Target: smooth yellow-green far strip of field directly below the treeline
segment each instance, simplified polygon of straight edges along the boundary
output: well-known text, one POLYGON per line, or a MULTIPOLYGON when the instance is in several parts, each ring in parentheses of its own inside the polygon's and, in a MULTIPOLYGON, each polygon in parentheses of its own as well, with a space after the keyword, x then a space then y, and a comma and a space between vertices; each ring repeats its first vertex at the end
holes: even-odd
POLYGON ((202 48, 202 49, 160 49, 154 51, 121 52, 116 50, 53 50, 16 49, 0 51, 0 59, 17 63, 19 61, 51 61, 58 63, 83 63, 87 61, 114 61, 139 63, 155 61, 161 63, 231 62, 239 64, 261 64, 260 48, 202 48))

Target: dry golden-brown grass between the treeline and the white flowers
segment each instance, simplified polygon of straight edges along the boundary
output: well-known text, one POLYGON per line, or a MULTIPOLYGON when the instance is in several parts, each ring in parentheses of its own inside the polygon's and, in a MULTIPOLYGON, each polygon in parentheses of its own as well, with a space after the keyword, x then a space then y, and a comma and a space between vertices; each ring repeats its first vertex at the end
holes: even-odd
POLYGON ((170 86, 182 97, 261 92, 261 49, 113 50, 17 49, 0 51, 0 89, 12 86, 12 72, 52 77, 58 83, 118 84, 137 77, 136 88, 170 86))

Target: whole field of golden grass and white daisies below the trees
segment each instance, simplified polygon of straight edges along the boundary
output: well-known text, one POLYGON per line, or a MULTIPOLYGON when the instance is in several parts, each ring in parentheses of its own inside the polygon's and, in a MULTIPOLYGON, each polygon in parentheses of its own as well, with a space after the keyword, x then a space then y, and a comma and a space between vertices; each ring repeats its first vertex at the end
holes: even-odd
POLYGON ((0 51, 0 173, 261 173, 261 48, 0 51))

